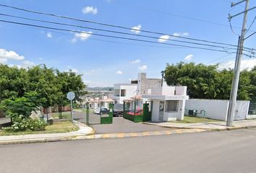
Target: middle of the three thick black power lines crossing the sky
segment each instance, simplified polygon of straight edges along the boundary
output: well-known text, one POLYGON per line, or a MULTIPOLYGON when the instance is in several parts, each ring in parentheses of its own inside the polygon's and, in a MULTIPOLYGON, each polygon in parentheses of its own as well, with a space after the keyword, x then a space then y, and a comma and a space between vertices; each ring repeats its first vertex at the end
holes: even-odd
MULTIPOLYGON (((10 15, 10 14, 1 14, 1 16, 6 16, 6 17, 14 17, 14 18, 18 18, 18 19, 27 19, 30 21, 36 21, 36 22, 44 22, 44 23, 51 23, 51 24, 56 24, 56 25, 64 25, 64 26, 69 26, 69 27, 80 27, 80 28, 85 28, 85 29, 89 29, 89 30, 98 30, 98 31, 104 31, 104 32, 112 32, 112 33, 117 33, 117 34, 122 34, 122 35, 132 35, 132 36, 137 36, 137 37, 147 37, 147 38, 154 38, 154 39, 159 39, 159 37, 153 37, 153 36, 148 36, 148 35, 136 35, 136 34, 131 34, 131 33, 127 33, 127 32, 119 32, 119 31, 113 31, 113 30, 103 30, 103 29, 99 29, 99 28, 95 28, 95 27, 84 27, 84 26, 80 26, 80 25, 70 25, 67 23, 60 23, 60 22, 51 22, 51 21, 46 21, 46 20, 40 20, 40 19, 31 19, 31 18, 27 18, 27 17, 17 17, 14 15, 10 15)), ((166 38, 163 38, 161 40, 169 40, 166 38)), ((195 42, 189 42, 189 41, 183 41, 183 40, 171 40, 174 42, 179 42, 179 43, 188 43, 188 44, 193 44, 193 45, 205 45, 205 46, 209 46, 209 47, 214 47, 214 48, 223 48, 225 49, 223 46, 219 46, 219 45, 209 45, 209 44, 204 44, 204 43, 195 43, 195 42)), ((236 50, 236 48, 227 48, 227 49, 232 49, 232 50, 236 50)), ((245 50, 247 51, 247 50, 245 50)))

